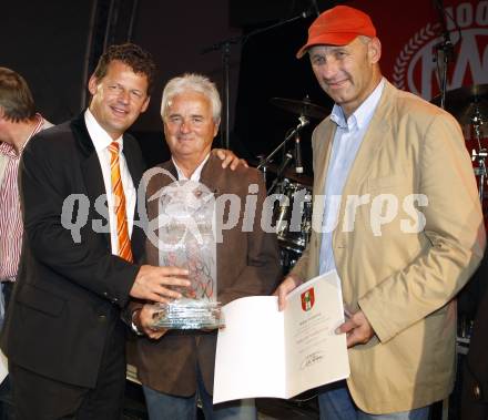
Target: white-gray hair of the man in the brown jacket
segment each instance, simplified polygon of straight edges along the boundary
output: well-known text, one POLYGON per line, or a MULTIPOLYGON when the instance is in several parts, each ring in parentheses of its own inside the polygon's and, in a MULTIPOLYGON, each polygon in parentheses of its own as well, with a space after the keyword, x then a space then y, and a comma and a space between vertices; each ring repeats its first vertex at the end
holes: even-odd
POLYGON ((161 100, 161 116, 163 120, 170 101, 175 95, 187 91, 202 93, 209 99, 212 105, 213 121, 218 124, 221 122, 222 102, 215 83, 209 78, 196 73, 185 73, 182 76, 171 79, 166 83, 161 100))

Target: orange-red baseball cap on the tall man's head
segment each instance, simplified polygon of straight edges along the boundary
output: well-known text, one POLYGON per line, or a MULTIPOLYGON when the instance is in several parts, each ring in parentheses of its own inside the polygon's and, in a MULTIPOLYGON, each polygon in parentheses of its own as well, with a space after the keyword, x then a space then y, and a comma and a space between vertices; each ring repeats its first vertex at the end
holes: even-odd
POLYGON ((358 35, 376 37, 369 16, 348 6, 326 10, 308 28, 308 40, 296 53, 301 59, 313 45, 346 45, 358 35))

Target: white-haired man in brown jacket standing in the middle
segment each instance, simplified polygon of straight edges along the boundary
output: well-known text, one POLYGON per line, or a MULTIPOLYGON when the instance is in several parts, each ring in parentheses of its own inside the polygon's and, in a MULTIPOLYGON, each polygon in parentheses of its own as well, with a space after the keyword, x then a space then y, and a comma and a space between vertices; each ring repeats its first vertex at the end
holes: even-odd
MULTIPOLYGON (((172 79, 163 92, 161 114, 172 160, 160 166, 166 174, 150 178, 146 197, 176 178, 200 182, 217 202, 224 194, 237 197, 240 208, 227 206, 223 214, 218 213, 218 205, 216 208, 216 297, 225 305, 243 296, 270 294, 279 276, 279 265, 275 234, 261 228, 265 185, 256 170, 223 170, 218 158, 210 154, 221 115, 215 85, 197 74, 172 79), (252 215, 247 214, 248 199, 256 203, 252 215), (248 223, 253 217, 254 223, 248 223), (235 226, 222 231, 221 223, 230 218, 235 218, 235 226)), ((149 201, 149 221, 157 215, 157 201, 149 201)), ((146 242, 146 254, 148 262, 159 264, 159 249, 151 240, 146 242)), ((154 331, 151 306, 133 308, 134 324, 149 336, 138 340, 134 362, 152 420, 194 419, 197 398, 207 419, 256 418, 250 400, 212 404, 215 330, 154 331)))

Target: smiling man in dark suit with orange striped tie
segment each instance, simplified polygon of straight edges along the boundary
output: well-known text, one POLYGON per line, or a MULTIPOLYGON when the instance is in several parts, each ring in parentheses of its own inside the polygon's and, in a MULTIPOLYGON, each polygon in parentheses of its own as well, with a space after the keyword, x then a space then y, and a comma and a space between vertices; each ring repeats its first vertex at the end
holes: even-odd
POLYGON ((22 255, 1 337, 19 420, 120 419, 121 308, 130 296, 166 301, 180 296, 167 286, 187 285, 186 270, 136 264, 143 235, 135 188, 144 165, 124 132, 146 110, 153 74, 151 57, 139 47, 111 47, 90 79, 89 109, 41 132, 23 152, 22 255), (112 191, 114 143, 132 254, 124 258, 114 209, 120 198, 112 191), (79 232, 67 228, 73 223, 79 232))

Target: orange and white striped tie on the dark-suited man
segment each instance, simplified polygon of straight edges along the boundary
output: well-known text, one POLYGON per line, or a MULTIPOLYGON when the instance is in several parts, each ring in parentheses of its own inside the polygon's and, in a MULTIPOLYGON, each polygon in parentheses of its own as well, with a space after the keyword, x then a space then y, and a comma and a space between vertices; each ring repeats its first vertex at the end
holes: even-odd
POLYGON ((119 239, 119 256, 132 263, 131 239, 129 238, 128 212, 125 209, 125 195, 120 175, 119 143, 112 142, 110 151, 110 173, 112 181, 112 194, 114 213, 116 218, 116 237, 119 239))

